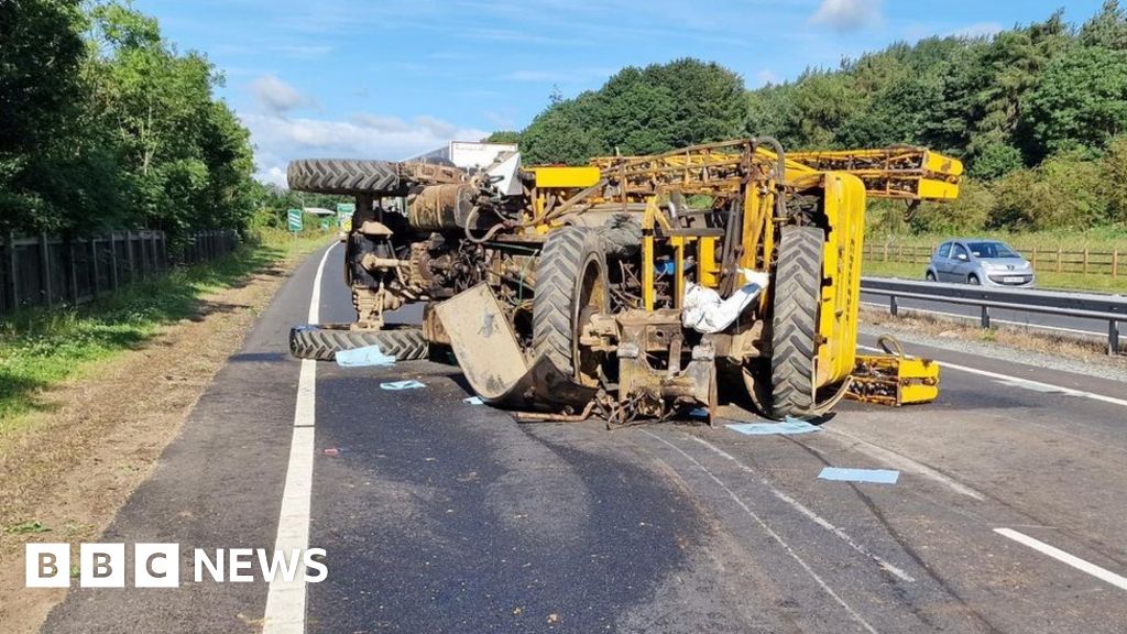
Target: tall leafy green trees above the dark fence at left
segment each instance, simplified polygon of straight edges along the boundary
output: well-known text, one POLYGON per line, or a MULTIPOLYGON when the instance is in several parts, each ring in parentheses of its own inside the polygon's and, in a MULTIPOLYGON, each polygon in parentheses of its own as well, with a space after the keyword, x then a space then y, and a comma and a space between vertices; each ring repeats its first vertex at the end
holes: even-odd
POLYGON ((266 193, 222 81, 128 2, 0 1, 0 230, 246 227, 266 193))

